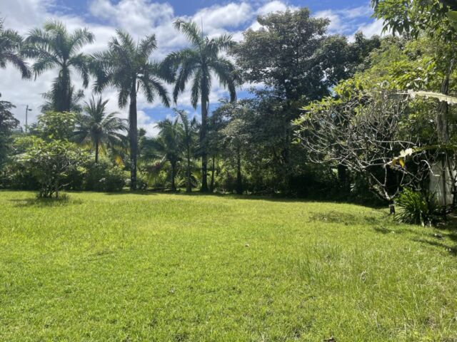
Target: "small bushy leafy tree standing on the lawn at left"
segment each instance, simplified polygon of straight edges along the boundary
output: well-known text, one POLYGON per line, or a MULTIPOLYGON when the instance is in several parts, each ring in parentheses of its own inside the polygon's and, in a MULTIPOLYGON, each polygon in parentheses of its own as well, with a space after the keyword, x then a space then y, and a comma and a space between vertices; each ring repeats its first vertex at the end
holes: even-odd
POLYGON ((26 151, 17 157, 20 165, 39 182, 39 197, 59 197, 69 174, 82 172, 87 154, 74 143, 64 140, 46 142, 35 138, 26 151))

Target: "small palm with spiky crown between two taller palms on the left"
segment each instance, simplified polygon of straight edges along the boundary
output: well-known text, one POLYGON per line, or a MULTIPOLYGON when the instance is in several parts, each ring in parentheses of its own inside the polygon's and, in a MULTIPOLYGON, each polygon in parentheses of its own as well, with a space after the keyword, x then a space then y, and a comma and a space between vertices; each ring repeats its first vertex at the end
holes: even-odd
POLYGON ((126 138, 122 132, 127 131, 126 120, 117 118, 118 113, 106 113, 106 103, 94 96, 84 105, 84 114, 79 115, 74 132, 74 140, 94 146, 95 162, 99 162, 99 148, 106 145, 116 147, 126 138))

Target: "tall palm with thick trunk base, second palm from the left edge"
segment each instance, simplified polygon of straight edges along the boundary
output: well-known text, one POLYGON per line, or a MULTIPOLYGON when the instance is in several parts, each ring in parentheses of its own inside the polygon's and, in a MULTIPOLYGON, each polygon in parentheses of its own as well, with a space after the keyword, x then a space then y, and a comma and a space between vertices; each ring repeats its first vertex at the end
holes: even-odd
MULTIPOLYGON (((32 66, 35 78, 44 71, 59 68, 59 75, 51 88, 51 104, 54 110, 71 110, 74 87, 71 85, 71 69, 83 79, 83 86, 89 85, 89 56, 81 48, 94 41, 94 34, 87 28, 78 28, 73 33, 66 30, 61 21, 46 21, 44 28, 34 28, 26 38, 26 56, 36 61, 32 66)), ((45 98, 46 94, 44 95, 45 98)), ((48 96, 49 97, 49 96, 48 96)))

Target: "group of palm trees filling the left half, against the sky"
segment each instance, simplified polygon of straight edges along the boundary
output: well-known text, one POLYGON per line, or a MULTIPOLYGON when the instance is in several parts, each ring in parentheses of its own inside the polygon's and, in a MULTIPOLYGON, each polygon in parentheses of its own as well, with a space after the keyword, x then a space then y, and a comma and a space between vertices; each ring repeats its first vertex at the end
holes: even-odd
MULTIPOLYGON (((116 30, 116 36, 111 38, 106 51, 94 53, 89 56, 82 51, 86 44, 92 43, 94 34, 87 28, 76 29, 73 33, 66 30, 60 21, 46 21, 43 28, 34 28, 24 39, 13 30, 4 29, 3 21, 0 22, 0 68, 5 68, 9 62, 19 68, 23 78, 37 78, 44 71, 58 70, 51 90, 44 94, 46 103, 42 110, 55 110, 59 112, 81 111, 79 100, 84 96, 82 90, 76 90, 71 82, 72 73, 79 73, 83 80, 83 88, 89 86, 93 79, 94 93, 101 93, 106 88, 114 88, 118 95, 119 108, 129 105, 129 149, 131 165, 131 189, 136 189, 137 184, 137 157, 138 157, 138 128, 137 128, 137 97, 139 93, 149 103, 156 98, 169 107, 171 99, 166 89, 166 83, 173 87, 173 102, 176 104, 179 95, 186 90, 190 83, 191 105, 194 108, 201 105, 201 125, 199 146, 201 155, 201 191, 208 191, 207 183, 207 153, 206 132, 208 125, 209 95, 211 93, 212 76, 216 76, 221 86, 229 90, 231 100, 236 98, 236 69, 228 58, 221 56, 221 52, 229 48, 233 42, 231 36, 223 35, 217 38, 204 36, 201 29, 192 21, 177 20, 175 28, 184 33, 190 46, 181 51, 170 53, 161 63, 151 61, 151 55, 157 48, 154 34, 146 36, 140 41, 126 31, 116 30), (26 58, 33 61, 28 66, 26 58)), ((98 160, 99 147, 104 144, 113 144, 121 139, 124 122, 116 118, 116 113, 106 115, 106 101, 99 98, 86 103, 86 115, 77 128, 76 136, 81 142, 94 142, 96 159, 98 160), (105 116, 106 115, 106 116, 105 116)), ((179 112, 178 119, 173 123, 164 121, 159 124, 161 134, 154 140, 155 150, 159 146, 164 150, 173 150, 171 138, 176 135, 176 130, 190 128, 189 119, 184 119, 183 112, 179 112), (180 123, 178 124, 178 120, 180 123), (160 141, 159 141, 160 140, 160 141)), ((176 135, 177 137, 178 135, 176 135)), ((179 137, 182 134, 179 133, 179 137)), ((185 139, 177 139, 176 144, 182 147, 185 139)), ((175 143, 175 142, 174 142, 175 143)), ((190 147, 187 150, 189 176, 190 147)), ((173 152, 166 152, 174 175, 176 174, 176 158, 173 152)), ((187 177, 187 186, 190 187, 190 176, 187 177)), ((174 179, 174 176, 172 177, 174 179)), ((173 181, 174 183, 174 181, 173 181)), ((174 184, 173 184, 173 187, 174 184)))

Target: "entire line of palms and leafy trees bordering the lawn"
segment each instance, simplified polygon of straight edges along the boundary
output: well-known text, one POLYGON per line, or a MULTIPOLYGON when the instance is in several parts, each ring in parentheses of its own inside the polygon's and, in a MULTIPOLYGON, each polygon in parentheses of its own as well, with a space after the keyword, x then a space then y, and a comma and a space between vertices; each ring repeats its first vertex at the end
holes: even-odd
MULTIPOLYGON (((351 41, 328 34, 328 19, 315 18, 308 9, 260 16, 261 28, 245 31, 239 43, 229 35, 206 37, 195 23, 178 20, 175 28, 189 47, 159 62, 151 61, 154 35, 137 44, 117 31, 106 51, 86 56, 81 48, 94 40, 87 29, 69 33, 64 24, 49 22, 23 39, 2 28, 0 46, 9 52, 0 53, 0 65, 13 63, 24 78, 59 68, 45 94, 44 114, 25 138, 79 144, 74 147, 95 155, 95 165, 103 160, 106 167, 129 170, 132 190, 185 187, 363 202, 376 200, 375 194, 393 201, 406 187, 428 195, 430 165, 442 160, 443 151, 450 175, 454 167, 452 106, 405 94, 455 91, 453 11, 448 4, 417 2, 410 8, 401 1, 373 1, 375 15, 396 36, 356 33, 351 41), (404 7, 401 15, 396 6, 404 7), (25 57, 34 61, 30 68, 25 57), (119 108, 129 105, 129 119, 96 110, 106 105, 100 98, 81 105, 82 90, 71 82, 74 72, 83 87, 93 81, 94 93, 116 89, 119 108), (209 113, 215 82, 229 98, 209 113), (172 85, 170 94, 166 83, 172 85), (236 91, 246 83, 256 86, 238 100, 236 91), (190 104, 201 108, 201 120, 175 110, 174 120, 159 123, 156 138, 138 130, 139 93, 169 107, 186 89, 190 104), (75 116, 68 135, 44 133, 51 125, 70 127, 61 123, 69 113, 75 116)), ((8 117, 11 105, 3 108, 8 117)), ((30 151, 11 113, 8 118, 2 128, 9 137, 1 155, 2 184, 22 187, 15 181, 18 160, 30 151)), ((77 164, 89 175, 86 162, 77 164)), ((74 184, 59 181, 59 187, 74 184)))

